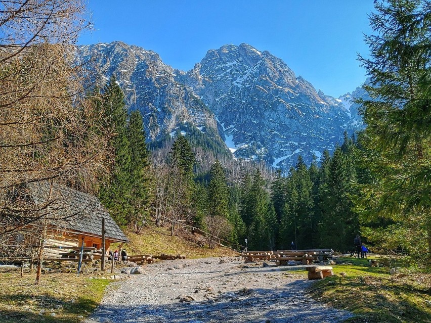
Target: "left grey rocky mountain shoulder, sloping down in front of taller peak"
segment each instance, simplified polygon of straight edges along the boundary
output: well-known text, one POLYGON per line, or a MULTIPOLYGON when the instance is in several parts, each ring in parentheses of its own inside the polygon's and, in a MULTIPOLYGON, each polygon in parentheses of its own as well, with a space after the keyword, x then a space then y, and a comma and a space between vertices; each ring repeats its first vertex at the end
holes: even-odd
POLYGON ((115 41, 79 46, 76 57, 84 61, 93 59, 99 76, 106 80, 116 76, 128 108, 141 111, 149 139, 162 139, 185 123, 202 131, 210 127, 217 132, 213 114, 175 80, 174 69, 156 53, 115 41))

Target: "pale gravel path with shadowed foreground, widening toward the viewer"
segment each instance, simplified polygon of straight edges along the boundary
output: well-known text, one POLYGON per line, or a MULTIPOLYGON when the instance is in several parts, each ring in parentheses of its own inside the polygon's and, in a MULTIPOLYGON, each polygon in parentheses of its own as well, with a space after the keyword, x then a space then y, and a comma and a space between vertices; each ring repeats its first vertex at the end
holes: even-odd
POLYGON ((87 323, 340 322, 349 312, 305 294, 288 267, 244 265, 241 258, 162 261, 118 282, 87 323), (245 268, 244 268, 245 267, 245 268))

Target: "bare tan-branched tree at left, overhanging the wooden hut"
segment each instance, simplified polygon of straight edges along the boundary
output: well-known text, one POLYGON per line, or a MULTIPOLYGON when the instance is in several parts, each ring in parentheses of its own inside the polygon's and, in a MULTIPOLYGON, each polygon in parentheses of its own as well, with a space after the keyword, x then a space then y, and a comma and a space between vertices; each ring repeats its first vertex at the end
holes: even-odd
POLYGON ((83 96, 87 72, 73 64, 85 18, 81 0, 0 2, 0 255, 21 234, 37 242, 38 266, 60 218, 47 216, 56 196, 35 201, 29 184, 92 192, 110 163, 103 113, 83 96))

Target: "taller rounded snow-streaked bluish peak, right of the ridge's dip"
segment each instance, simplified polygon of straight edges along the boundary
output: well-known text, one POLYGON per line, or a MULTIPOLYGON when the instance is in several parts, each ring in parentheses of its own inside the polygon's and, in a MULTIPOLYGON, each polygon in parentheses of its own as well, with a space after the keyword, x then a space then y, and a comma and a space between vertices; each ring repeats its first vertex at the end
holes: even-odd
POLYGON ((263 158, 288 168, 299 154, 308 162, 341 144, 354 120, 341 100, 313 85, 269 52, 250 45, 210 50, 176 79, 211 109, 237 157, 263 158))

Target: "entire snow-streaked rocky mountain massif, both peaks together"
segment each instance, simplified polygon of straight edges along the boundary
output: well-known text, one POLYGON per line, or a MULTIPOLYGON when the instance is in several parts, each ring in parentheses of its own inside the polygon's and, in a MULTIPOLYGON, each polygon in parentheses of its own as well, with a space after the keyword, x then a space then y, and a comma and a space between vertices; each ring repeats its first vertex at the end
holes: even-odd
POLYGON ((117 77, 151 140, 190 124, 215 133, 236 157, 288 169, 298 155, 309 163, 341 144, 344 130, 362 126, 352 95, 325 96, 279 58, 247 44, 210 50, 188 72, 119 41, 80 46, 76 57, 94 57, 105 79, 117 77))

